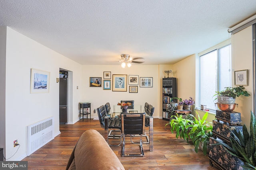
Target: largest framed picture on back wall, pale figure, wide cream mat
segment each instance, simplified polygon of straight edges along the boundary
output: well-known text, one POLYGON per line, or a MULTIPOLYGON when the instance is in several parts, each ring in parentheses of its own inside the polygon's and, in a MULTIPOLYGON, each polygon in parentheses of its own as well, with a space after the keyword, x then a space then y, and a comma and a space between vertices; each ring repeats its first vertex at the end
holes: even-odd
POLYGON ((113 74, 112 91, 127 92, 127 74, 113 74))

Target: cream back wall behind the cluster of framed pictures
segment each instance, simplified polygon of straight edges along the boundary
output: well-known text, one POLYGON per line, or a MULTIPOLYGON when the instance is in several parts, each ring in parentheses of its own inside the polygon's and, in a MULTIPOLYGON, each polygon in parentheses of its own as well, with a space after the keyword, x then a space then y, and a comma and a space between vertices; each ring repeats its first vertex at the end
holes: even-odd
MULTIPOLYGON (((98 117, 97 111, 93 113, 93 109, 106 104, 116 105, 120 100, 134 100, 134 104, 144 105, 145 102, 155 107, 154 117, 159 116, 159 77, 158 65, 135 65, 130 68, 121 68, 120 65, 83 65, 82 66, 82 100, 81 102, 91 102, 92 117, 98 117), (139 77, 153 77, 152 88, 140 88, 138 85, 138 93, 129 93, 129 85, 127 92, 113 92, 112 82, 111 90, 103 90, 103 87, 90 87, 90 77, 102 77, 103 72, 111 72, 111 80, 113 74, 138 75, 139 77)), ((134 85, 130 85, 134 86, 134 85)), ((162 101, 161 101, 162 102, 162 101)), ((161 111, 162 116, 162 111, 161 111)))

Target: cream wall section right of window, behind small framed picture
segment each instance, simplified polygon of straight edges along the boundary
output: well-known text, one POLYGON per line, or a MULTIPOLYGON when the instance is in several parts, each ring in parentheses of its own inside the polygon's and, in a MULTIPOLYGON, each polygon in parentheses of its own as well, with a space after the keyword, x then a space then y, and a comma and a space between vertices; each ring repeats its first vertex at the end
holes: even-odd
MULTIPOLYGON (((231 36, 232 48, 232 77, 234 71, 248 69, 248 86, 244 86, 251 95, 236 98, 238 107, 234 111, 241 113, 242 123, 250 127, 250 113, 253 108, 253 49, 252 49, 252 26, 249 26, 231 36)), ((234 87, 234 80, 232 87, 234 87)))

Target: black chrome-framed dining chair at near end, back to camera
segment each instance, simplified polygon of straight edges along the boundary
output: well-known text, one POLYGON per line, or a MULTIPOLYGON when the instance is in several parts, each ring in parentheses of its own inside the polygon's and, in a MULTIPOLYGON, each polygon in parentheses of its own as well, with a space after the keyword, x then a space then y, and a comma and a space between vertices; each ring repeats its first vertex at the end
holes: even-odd
POLYGON ((145 132, 145 115, 146 113, 121 114, 123 138, 122 156, 144 156, 142 135, 145 132), (125 152, 125 135, 140 135, 140 154, 128 154, 125 152))

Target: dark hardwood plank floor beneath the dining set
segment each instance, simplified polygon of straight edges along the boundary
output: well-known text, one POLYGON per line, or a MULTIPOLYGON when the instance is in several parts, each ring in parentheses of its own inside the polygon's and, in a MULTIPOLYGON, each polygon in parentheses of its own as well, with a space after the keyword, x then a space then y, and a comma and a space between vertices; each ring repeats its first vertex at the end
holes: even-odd
MULTIPOLYGON (((154 119, 154 151, 150 152, 148 144, 143 144, 144 157, 122 157, 121 148, 111 147, 126 170, 217 170, 210 166, 208 156, 202 151, 196 153, 192 143, 176 139, 168 123, 162 119, 154 119)), ((82 133, 88 129, 96 129, 104 135, 98 120, 82 119, 74 125, 60 125, 61 134, 54 140, 27 156, 29 170, 64 170, 68 158, 82 133)), ((148 131, 148 129, 146 129, 148 131)), ((130 140, 126 139, 126 146, 130 140)), ((130 144, 136 148, 136 144, 130 144)), ((102 159, 103 160, 103 159, 102 159)))

